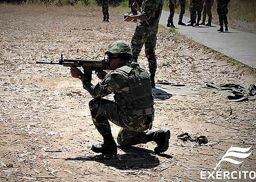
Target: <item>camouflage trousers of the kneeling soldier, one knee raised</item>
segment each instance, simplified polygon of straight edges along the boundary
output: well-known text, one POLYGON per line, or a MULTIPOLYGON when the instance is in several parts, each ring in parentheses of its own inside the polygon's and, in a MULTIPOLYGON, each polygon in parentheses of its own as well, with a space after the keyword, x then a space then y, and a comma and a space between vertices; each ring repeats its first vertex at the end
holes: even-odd
POLYGON ((131 116, 124 113, 116 102, 102 98, 91 100, 89 107, 93 124, 103 137, 111 133, 110 120, 121 127, 117 135, 119 145, 131 146, 150 141, 150 131, 145 131, 152 128, 154 114, 131 116))

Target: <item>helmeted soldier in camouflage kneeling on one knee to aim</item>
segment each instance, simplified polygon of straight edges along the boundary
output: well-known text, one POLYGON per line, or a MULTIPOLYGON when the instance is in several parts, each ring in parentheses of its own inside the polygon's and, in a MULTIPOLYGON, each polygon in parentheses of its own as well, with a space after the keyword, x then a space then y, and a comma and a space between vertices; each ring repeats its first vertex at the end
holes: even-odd
POLYGON ((113 71, 97 74, 102 79, 95 86, 78 68, 72 67, 71 75, 79 78, 93 100, 89 102, 93 124, 103 137, 103 143, 93 144, 95 153, 117 154, 117 145, 111 133, 109 120, 120 126, 117 142, 121 146, 154 141, 156 154, 169 147, 170 130, 146 131, 152 128, 154 103, 150 77, 138 63, 132 62, 131 46, 123 40, 109 44, 105 54, 113 71), (114 93, 114 101, 102 97, 114 93))

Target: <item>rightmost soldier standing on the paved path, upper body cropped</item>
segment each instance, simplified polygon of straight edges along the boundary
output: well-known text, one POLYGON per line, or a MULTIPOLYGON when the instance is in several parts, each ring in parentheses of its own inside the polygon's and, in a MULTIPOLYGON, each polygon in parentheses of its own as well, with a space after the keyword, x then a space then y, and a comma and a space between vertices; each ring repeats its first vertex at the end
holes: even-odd
POLYGON ((227 21, 227 13, 229 12, 229 9, 227 9, 227 5, 229 4, 230 0, 217 0, 217 13, 219 16, 219 26, 220 28, 217 30, 219 32, 223 32, 223 21, 225 23, 225 31, 229 31, 227 28, 227 24, 229 23, 227 21))

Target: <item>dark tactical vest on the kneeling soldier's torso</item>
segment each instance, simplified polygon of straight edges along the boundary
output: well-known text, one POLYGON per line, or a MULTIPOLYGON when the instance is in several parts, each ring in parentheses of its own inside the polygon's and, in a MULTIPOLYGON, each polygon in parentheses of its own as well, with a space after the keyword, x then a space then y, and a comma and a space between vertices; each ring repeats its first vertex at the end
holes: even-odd
POLYGON ((114 93, 114 100, 121 110, 133 114, 134 111, 153 109, 152 88, 147 71, 138 63, 123 66, 115 71, 124 76, 129 87, 127 92, 114 93))

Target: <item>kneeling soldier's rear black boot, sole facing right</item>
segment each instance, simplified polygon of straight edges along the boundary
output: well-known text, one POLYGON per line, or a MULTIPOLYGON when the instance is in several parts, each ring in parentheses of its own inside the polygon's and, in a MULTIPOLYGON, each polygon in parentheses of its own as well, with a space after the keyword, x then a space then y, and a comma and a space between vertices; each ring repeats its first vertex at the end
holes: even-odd
POLYGON ((170 130, 157 130, 150 132, 150 139, 157 143, 154 151, 156 154, 163 153, 169 148, 170 130))

